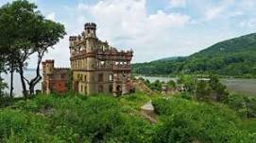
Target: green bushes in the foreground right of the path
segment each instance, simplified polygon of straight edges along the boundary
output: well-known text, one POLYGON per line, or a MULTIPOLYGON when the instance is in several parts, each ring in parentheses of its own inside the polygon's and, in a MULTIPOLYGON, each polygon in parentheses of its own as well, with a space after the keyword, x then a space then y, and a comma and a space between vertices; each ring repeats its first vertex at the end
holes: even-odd
POLYGON ((255 135, 240 130, 240 119, 222 104, 209 105, 179 98, 153 101, 162 124, 153 142, 250 142, 255 135))

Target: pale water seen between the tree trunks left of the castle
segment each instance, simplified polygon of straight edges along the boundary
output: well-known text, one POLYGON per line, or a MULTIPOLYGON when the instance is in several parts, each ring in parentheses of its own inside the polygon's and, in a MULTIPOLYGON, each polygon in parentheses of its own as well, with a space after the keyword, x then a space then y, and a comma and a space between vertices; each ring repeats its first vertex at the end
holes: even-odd
MULTIPOLYGON (((25 71, 25 76, 27 79, 31 79, 33 77, 35 77, 36 72, 35 71, 25 71)), ((9 74, 1 74, 1 77, 4 78, 5 82, 10 83, 10 75, 9 74)), ((22 84, 21 84, 21 78, 20 78, 20 74, 18 73, 14 73, 13 76, 13 87, 14 87, 14 94, 16 97, 22 96, 22 84)), ((26 85, 26 89, 28 89, 28 86, 26 85)), ((35 87, 36 89, 41 89, 41 82, 38 83, 38 85, 35 87)), ((6 89, 7 92, 9 92, 9 89, 6 89)))

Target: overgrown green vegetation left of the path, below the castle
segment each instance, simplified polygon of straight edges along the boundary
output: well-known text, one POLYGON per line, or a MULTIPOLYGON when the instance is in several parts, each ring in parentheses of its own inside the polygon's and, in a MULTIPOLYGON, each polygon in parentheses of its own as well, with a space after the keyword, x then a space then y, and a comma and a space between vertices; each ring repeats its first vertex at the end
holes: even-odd
POLYGON ((38 95, 14 102, 0 110, 1 142, 150 142, 149 122, 118 100, 38 95))

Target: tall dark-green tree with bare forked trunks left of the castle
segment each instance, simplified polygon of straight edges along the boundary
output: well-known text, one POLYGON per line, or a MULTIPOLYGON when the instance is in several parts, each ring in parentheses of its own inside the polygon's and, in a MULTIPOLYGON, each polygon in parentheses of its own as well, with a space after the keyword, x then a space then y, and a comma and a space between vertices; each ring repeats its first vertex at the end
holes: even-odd
POLYGON ((34 87, 42 79, 40 64, 45 52, 66 34, 62 24, 46 20, 36 8, 35 4, 26 0, 17 0, 0 9, 1 48, 9 51, 11 59, 15 59, 10 63, 14 62, 17 66, 25 96, 26 83, 30 94, 33 94, 34 87), (36 76, 29 81, 24 76, 24 69, 27 59, 34 54, 38 56, 36 76))

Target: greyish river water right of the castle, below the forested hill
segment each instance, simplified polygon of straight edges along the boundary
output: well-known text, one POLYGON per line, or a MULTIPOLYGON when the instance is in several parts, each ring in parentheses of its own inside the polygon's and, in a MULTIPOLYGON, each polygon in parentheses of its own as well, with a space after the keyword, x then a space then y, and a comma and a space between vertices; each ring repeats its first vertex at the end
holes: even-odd
MULTIPOLYGON (((169 80, 177 81, 177 78, 170 77, 153 77, 153 76, 137 76, 143 77, 150 82, 160 80, 162 82, 167 82, 169 80)), ((227 86, 230 91, 256 95, 256 79, 221 79, 221 82, 227 86)))

